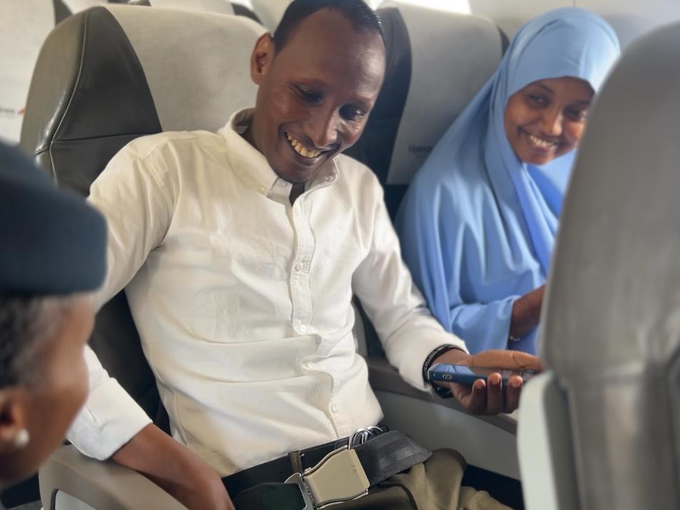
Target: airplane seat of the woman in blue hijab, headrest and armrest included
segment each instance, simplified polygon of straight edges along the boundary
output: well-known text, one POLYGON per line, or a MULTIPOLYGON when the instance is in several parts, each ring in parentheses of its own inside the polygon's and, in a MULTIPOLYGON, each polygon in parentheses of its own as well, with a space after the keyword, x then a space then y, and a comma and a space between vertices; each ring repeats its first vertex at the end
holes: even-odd
MULTIPOLYGON (((411 176, 489 79, 503 48, 499 29, 479 16, 406 1, 383 5, 378 13, 386 38, 386 79, 364 133, 346 154, 373 169, 394 216, 411 176)), ((384 359, 363 318, 369 377, 386 423, 430 449, 456 449, 469 464, 518 479, 515 419, 472 416, 455 399, 411 388, 384 359)))

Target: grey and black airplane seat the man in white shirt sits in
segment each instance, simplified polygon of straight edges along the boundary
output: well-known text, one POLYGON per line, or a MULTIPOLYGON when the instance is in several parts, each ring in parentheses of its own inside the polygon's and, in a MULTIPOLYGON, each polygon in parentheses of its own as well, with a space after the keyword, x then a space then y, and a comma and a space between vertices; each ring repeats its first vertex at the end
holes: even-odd
MULTIPOLYGON (((216 131, 232 111, 254 104, 256 86, 246 70, 262 31, 243 16, 174 9, 108 4, 75 14, 51 31, 40 51, 21 148, 60 186, 86 195, 132 139, 216 131)), ((167 431, 123 293, 99 312, 90 344, 109 374, 167 431)), ((97 509, 180 507, 135 475, 63 447, 41 470, 44 508, 60 508, 55 503, 67 494, 97 509), (124 490, 116 485, 121 481, 124 490)))

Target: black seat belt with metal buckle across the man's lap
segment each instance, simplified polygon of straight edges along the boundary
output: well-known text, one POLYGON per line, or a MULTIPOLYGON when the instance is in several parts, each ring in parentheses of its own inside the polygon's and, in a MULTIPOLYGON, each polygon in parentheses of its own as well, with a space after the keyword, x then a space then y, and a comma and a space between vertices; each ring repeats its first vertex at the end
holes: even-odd
POLYGON ((248 510, 317 510, 329 504, 351 501, 368 494, 390 476, 406 471, 431 456, 399 431, 364 436, 356 446, 348 444, 321 459, 316 466, 292 474, 284 483, 257 484, 241 491, 234 504, 248 510))

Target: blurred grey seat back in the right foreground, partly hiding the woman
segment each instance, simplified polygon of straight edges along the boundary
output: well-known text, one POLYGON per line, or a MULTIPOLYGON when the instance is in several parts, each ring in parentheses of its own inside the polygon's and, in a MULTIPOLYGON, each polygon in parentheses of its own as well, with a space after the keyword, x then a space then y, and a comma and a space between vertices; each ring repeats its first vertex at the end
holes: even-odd
POLYGON ((680 23, 589 112, 520 405, 529 510, 680 508, 680 23))

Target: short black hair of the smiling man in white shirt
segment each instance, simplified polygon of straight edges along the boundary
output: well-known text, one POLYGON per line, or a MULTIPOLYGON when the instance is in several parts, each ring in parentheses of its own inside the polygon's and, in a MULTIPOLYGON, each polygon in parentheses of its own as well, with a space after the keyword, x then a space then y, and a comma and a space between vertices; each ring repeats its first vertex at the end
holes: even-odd
POLYGON ((356 31, 374 32, 379 34, 383 43, 385 34, 376 11, 371 9, 364 0, 294 0, 284 12, 279 26, 274 31, 274 48, 276 51, 288 44, 291 35, 307 16, 321 9, 333 9, 342 14, 356 31))

